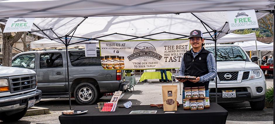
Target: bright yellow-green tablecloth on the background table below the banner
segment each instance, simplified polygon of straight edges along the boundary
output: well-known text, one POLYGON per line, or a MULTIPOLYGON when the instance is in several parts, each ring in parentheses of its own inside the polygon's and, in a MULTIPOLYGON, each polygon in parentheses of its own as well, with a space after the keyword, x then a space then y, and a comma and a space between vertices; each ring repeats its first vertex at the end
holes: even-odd
MULTIPOLYGON (((171 81, 172 73, 170 71, 166 71, 167 78, 171 81)), ((159 72, 144 72, 141 77, 140 81, 143 81, 145 79, 161 79, 160 71, 159 72)), ((163 74, 163 79, 165 80, 165 76, 163 74)))

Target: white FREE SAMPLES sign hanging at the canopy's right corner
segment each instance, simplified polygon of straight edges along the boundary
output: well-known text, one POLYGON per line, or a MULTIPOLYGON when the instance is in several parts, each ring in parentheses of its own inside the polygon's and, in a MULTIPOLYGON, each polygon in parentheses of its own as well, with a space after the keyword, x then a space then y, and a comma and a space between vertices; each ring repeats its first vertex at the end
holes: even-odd
POLYGON ((230 30, 259 28, 255 10, 227 11, 230 30))

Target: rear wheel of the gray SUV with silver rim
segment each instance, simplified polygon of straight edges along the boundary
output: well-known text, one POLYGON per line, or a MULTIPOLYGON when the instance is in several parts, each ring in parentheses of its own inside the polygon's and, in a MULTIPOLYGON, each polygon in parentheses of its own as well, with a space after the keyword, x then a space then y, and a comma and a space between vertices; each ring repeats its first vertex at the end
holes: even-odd
POLYGON ((90 83, 80 83, 74 90, 75 101, 80 105, 91 105, 98 97, 97 88, 90 83), (80 94, 82 93, 82 94, 80 94))

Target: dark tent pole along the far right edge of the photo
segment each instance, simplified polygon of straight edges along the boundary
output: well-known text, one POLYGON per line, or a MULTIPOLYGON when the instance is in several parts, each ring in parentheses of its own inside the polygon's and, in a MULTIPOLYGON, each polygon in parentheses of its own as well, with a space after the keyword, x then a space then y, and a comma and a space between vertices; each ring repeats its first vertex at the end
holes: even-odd
MULTIPOLYGON (((274 9, 275 9, 275 6, 274 6, 274 9)), ((275 55, 275 12, 274 10, 272 11, 273 12, 273 55, 275 55)), ((275 59, 273 59, 273 63, 275 63, 275 59)), ((275 85, 275 69, 273 69, 273 92, 275 92, 275 88, 274 88, 274 85, 275 85)), ((273 106, 275 106, 275 95, 273 94, 273 106)), ((273 107, 273 123, 275 123, 275 107, 273 107)))

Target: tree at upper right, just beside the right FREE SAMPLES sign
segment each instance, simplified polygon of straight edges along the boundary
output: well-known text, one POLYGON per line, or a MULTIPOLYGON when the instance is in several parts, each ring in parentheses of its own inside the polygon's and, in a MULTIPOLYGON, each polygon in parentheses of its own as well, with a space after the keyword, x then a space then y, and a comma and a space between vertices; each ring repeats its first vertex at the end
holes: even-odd
POLYGON ((273 27, 273 15, 272 14, 268 14, 267 16, 259 19, 258 22, 259 22, 259 27, 262 27, 264 29, 269 30, 269 32, 273 36, 273 31, 272 31, 272 27, 273 27))

